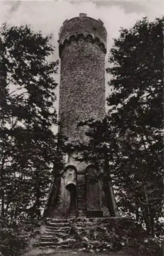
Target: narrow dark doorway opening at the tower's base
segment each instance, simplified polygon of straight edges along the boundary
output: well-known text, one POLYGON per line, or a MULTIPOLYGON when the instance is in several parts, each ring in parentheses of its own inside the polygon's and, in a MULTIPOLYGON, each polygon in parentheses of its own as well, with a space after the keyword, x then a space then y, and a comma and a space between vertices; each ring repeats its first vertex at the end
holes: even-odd
POLYGON ((69 218, 76 218, 76 212, 77 212, 77 189, 76 185, 73 183, 69 183, 66 186, 66 189, 68 189, 70 193, 70 206, 69 206, 69 218))

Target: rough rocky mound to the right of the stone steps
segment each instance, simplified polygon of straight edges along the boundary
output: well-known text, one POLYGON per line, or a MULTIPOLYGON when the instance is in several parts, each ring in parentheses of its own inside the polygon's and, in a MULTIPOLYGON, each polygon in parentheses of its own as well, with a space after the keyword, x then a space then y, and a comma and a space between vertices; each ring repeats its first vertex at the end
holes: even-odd
MULTIPOLYGON (((132 233, 137 229, 135 222, 130 218, 89 218, 74 219, 70 224, 73 228, 72 234, 80 246, 102 251, 119 251, 131 243, 132 233)), ((139 235, 139 234, 138 234, 139 235)))

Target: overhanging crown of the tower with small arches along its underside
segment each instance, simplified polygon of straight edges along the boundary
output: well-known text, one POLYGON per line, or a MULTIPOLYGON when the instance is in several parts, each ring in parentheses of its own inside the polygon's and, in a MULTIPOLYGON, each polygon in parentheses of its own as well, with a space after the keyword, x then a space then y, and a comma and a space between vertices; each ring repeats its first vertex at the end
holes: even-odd
POLYGON ((70 43, 73 39, 78 39, 79 36, 86 38, 90 36, 93 41, 97 41, 106 53, 107 31, 102 20, 87 17, 85 13, 80 13, 79 17, 75 17, 63 22, 63 26, 59 32, 59 56, 61 48, 65 43, 70 43))

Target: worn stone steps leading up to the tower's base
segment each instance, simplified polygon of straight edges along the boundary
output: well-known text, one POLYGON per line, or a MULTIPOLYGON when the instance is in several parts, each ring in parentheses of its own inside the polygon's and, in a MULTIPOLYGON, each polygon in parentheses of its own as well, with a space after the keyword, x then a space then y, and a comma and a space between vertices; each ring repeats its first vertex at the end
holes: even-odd
POLYGON ((48 219, 45 224, 44 232, 42 233, 37 247, 51 248, 68 248, 75 240, 70 238, 70 223, 69 220, 48 219))

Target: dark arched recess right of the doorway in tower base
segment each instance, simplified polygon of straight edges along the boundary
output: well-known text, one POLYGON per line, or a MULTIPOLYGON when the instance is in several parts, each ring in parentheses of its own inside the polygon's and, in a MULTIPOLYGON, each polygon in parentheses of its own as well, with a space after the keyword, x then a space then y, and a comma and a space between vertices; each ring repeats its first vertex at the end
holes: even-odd
POLYGON ((100 210, 99 169, 93 165, 86 168, 86 209, 100 210))

